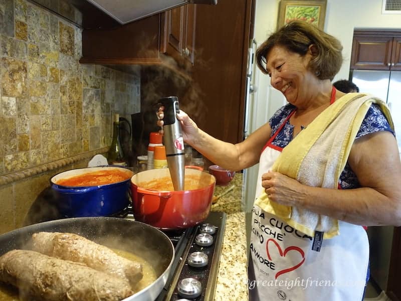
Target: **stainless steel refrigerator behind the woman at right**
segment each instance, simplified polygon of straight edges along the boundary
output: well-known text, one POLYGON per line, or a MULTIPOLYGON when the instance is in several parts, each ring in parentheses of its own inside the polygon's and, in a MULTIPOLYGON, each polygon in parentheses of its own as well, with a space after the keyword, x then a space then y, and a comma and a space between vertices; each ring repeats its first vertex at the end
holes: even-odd
MULTIPOLYGON (((401 154, 401 71, 353 70, 351 79, 360 92, 373 94, 387 103, 401 154)), ((370 244, 370 279, 383 291, 387 288, 393 229, 392 226, 383 226, 368 227, 367 230, 370 244)))

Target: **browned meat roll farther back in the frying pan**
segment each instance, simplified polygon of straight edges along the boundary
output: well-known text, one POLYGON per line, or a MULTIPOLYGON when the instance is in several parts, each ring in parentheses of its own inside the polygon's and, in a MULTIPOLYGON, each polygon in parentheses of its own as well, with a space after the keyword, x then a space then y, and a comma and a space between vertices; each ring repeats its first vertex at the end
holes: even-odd
POLYGON ((131 286, 142 279, 142 265, 123 258, 106 246, 73 233, 39 232, 32 235, 33 250, 60 259, 84 263, 99 271, 127 279, 131 286))

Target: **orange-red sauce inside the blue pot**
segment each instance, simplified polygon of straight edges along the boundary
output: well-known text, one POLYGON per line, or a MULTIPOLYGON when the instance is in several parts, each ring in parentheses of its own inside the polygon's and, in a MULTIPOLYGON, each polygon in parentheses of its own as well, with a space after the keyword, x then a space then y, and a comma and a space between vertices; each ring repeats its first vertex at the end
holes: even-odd
POLYGON ((104 170, 82 174, 56 182, 62 186, 99 186, 128 180, 129 174, 120 170, 104 170))

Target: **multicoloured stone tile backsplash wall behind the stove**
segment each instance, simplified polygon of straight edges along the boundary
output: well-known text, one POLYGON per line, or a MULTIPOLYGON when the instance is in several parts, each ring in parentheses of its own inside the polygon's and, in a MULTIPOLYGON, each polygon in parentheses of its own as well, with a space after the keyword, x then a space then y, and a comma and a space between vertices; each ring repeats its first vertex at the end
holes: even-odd
POLYGON ((0 233, 23 225, 49 178, 111 142, 112 114, 140 110, 140 70, 82 65, 81 30, 26 0, 0 0, 0 233))

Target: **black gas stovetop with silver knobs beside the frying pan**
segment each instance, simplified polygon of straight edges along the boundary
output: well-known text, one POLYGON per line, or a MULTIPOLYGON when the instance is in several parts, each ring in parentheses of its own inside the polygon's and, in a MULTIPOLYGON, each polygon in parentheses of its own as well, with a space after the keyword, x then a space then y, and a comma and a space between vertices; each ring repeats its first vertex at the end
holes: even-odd
MULTIPOLYGON (((128 214, 125 218, 132 218, 128 214)), ((226 213, 210 212, 200 225, 163 231, 175 256, 170 274, 156 301, 213 300, 219 271, 226 213)))

